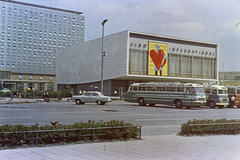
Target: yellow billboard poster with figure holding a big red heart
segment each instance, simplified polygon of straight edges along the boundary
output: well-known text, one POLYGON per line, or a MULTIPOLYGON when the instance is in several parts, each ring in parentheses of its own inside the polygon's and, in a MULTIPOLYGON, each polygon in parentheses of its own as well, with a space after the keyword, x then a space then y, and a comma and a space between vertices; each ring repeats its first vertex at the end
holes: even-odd
POLYGON ((148 75, 167 76, 168 45, 149 42, 148 75))

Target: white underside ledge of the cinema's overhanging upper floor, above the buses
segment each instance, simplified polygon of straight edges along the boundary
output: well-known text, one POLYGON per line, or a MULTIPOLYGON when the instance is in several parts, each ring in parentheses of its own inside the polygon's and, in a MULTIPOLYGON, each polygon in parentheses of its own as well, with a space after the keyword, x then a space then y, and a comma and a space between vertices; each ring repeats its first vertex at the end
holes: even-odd
POLYGON ((114 78, 113 80, 145 81, 145 82, 182 82, 182 83, 207 83, 217 82, 217 79, 192 78, 192 77, 170 77, 170 76, 150 76, 150 75, 127 75, 114 78))

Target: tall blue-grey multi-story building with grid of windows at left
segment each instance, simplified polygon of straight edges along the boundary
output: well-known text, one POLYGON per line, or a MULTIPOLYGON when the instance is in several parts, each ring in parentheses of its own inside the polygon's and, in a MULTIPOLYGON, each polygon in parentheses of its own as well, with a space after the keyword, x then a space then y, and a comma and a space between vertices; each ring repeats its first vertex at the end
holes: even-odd
POLYGON ((82 12, 0 0, 0 88, 57 90, 56 51, 84 42, 82 12))

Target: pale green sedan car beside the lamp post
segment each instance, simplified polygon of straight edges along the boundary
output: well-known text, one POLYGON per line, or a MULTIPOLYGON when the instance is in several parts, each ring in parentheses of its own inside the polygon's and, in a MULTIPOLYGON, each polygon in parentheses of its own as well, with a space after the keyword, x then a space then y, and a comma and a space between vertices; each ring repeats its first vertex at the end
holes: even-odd
POLYGON ((104 96, 101 92, 88 91, 83 95, 74 95, 72 101, 77 105, 85 103, 97 103, 98 105, 104 105, 107 102, 111 102, 112 99, 108 96, 104 96))

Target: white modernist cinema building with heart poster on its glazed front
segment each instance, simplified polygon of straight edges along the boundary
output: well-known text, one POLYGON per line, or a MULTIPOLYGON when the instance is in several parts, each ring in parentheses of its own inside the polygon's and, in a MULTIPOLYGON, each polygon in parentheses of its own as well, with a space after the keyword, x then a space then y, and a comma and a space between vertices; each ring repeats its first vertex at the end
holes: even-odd
MULTIPOLYGON (((136 82, 218 81, 216 43, 122 31, 104 37, 103 93, 122 95, 136 82)), ((101 89, 102 38, 57 51, 58 90, 101 89)))

